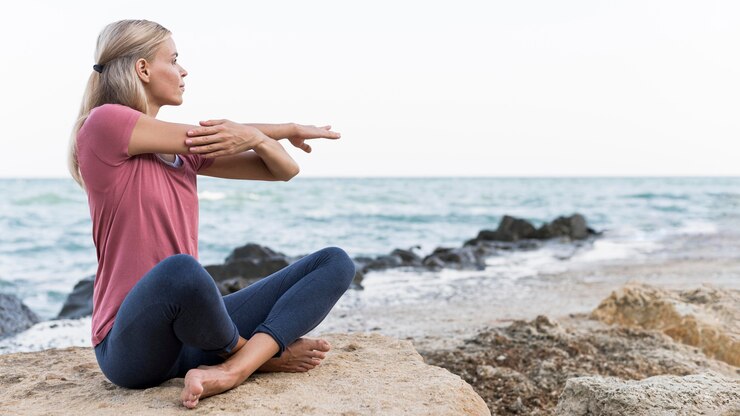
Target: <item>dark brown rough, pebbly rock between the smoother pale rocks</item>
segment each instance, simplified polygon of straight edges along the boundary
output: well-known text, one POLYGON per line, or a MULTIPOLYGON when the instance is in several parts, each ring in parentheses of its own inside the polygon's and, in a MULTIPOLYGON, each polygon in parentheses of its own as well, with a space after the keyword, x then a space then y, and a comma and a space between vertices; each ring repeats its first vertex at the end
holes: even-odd
POLYGON ((564 326, 545 316, 514 321, 504 328, 484 329, 460 347, 423 355, 428 363, 460 375, 491 413, 502 415, 515 409, 519 414, 550 415, 566 381, 580 376, 644 379, 716 371, 737 377, 735 367, 659 332, 588 319, 577 322, 564 326))

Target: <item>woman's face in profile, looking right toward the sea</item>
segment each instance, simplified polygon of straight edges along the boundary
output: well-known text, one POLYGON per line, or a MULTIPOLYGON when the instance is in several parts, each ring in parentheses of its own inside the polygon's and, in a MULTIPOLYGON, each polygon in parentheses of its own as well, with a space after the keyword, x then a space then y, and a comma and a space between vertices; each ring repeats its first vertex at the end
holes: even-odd
POLYGON ((150 105, 182 104, 182 94, 185 92, 183 78, 188 74, 177 63, 177 49, 175 41, 168 38, 162 42, 149 65, 149 83, 146 85, 150 105))

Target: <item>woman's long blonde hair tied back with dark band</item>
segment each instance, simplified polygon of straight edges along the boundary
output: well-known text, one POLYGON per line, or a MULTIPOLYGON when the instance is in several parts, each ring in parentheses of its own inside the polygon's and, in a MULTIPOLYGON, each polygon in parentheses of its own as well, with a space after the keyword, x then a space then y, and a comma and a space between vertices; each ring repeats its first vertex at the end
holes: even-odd
POLYGON ((122 104, 146 113, 148 103, 144 85, 136 73, 136 61, 154 59, 159 45, 171 36, 162 25, 148 20, 121 20, 106 26, 98 36, 95 64, 87 81, 80 114, 69 140, 68 168, 72 178, 85 189, 77 161, 77 133, 93 108, 103 104, 122 104))

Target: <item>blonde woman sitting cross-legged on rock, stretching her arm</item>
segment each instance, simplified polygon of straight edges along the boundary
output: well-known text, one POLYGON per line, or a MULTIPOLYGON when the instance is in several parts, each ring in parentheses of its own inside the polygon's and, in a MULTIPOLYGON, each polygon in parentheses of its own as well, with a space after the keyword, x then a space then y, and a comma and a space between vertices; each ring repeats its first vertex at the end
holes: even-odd
POLYGON ((108 25, 70 146, 86 190, 97 249, 92 343, 101 370, 128 388, 185 377, 181 399, 241 384, 253 372, 308 371, 325 340, 318 325, 354 276, 341 249, 313 253, 222 297, 198 263, 196 175, 287 181, 298 166, 278 142, 338 139, 329 126, 200 126, 156 119, 179 105, 187 72, 170 32, 145 20, 108 25))

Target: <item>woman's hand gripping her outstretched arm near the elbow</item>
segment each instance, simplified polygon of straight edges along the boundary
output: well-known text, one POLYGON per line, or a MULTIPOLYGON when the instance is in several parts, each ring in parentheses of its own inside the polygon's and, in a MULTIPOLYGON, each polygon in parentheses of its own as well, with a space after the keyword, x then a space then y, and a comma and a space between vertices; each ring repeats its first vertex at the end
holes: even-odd
POLYGON ((201 121, 201 127, 188 131, 185 145, 191 153, 206 158, 233 155, 254 149, 268 137, 259 129, 229 120, 201 121))

